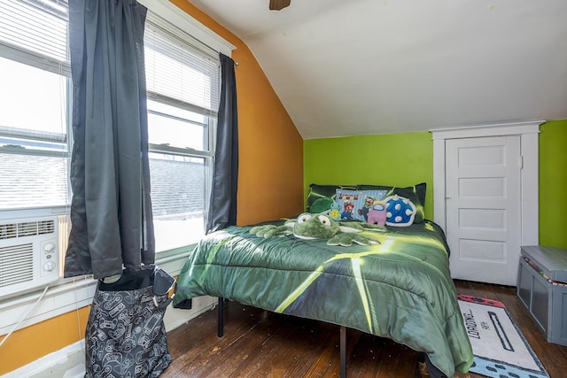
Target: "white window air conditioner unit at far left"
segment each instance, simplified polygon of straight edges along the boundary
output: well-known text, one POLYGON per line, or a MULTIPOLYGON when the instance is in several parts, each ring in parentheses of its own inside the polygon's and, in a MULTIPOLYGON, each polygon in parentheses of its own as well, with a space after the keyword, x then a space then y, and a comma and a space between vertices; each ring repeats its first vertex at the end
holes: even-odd
POLYGON ((59 278, 58 217, 0 220, 0 298, 59 278))

